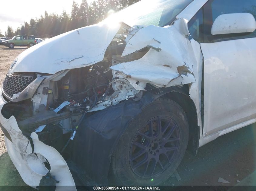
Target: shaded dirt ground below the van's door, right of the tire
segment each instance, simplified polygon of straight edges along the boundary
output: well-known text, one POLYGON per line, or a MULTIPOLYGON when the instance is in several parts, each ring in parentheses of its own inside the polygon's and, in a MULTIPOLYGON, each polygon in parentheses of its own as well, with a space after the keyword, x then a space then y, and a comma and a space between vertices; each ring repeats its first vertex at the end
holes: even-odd
POLYGON ((164 185, 256 186, 255 148, 256 123, 202 146, 195 157, 187 152, 177 169, 181 181, 173 177, 164 185))

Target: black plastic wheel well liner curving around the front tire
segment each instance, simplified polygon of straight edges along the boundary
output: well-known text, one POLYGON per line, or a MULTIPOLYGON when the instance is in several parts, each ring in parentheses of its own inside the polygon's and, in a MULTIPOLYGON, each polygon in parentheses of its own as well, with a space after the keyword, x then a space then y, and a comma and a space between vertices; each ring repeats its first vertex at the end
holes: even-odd
MULTIPOLYGON (((108 184, 108 172, 111 164, 111 155, 119 139, 131 121, 141 113, 141 110, 155 99, 162 96, 171 96, 169 99, 177 101, 175 95, 184 95, 188 100, 188 86, 154 89, 148 87, 140 101, 124 100, 117 105, 105 108, 86 117, 78 129, 74 140, 69 145, 71 158, 70 168, 78 174, 78 181, 85 181, 83 177, 90 177, 100 184, 108 184), (175 94, 171 94, 171 92, 175 94), (89 176, 88 176, 89 175, 89 176)), ((177 96, 176 96, 177 97, 177 96)), ((182 100, 182 99, 181 99, 182 100)), ((188 117, 189 107, 183 108, 188 117)), ((197 119, 197 118, 196 118, 197 119)), ((189 123, 194 124, 189 118, 189 123)), ((76 180, 75 180, 76 181, 76 180)))

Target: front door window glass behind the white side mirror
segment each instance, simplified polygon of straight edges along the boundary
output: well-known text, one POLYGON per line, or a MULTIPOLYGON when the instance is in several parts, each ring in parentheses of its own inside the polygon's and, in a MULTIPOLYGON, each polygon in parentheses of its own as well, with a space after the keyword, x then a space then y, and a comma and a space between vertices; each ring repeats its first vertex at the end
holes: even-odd
MULTIPOLYGON (((206 4, 206 6, 210 9, 208 11, 204 11, 204 13, 211 13, 208 15, 208 34, 210 34, 209 30, 211 29, 212 23, 215 19, 221 14, 230 14, 230 13, 251 13, 256 19, 256 1, 255 0, 211 0, 206 4), (207 5, 208 4, 208 5, 207 5)), ((206 8, 207 9, 207 8, 206 8)), ((206 19, 207 20, 207 19, 206 19)), ((232 38, 232 35, 230 36, 232 38)), ((236 35, 237 37, 237 35, 236 35)), ((256 37, 256 30, 250 34, 243 34, 243 37, 256 37)), ((241 38, 241 37, 239 37, 241 38)))

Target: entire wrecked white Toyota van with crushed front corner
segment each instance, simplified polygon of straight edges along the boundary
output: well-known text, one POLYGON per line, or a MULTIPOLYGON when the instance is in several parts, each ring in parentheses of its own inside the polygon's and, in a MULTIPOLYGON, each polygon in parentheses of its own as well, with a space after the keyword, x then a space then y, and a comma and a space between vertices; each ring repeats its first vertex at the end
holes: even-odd
POLYGON ((25 183, 161 185, 187 148, 255 123, 255 6, 141 0, 22 52, 0 123, 25 183))

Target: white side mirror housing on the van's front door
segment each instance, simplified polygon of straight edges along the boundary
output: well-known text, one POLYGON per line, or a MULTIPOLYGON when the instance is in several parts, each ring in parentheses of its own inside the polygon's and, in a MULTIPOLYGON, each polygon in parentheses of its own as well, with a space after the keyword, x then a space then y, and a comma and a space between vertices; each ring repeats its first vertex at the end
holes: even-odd
POLYGON ((212 27, 211 34, 250 33, 256 29, 256 21, 250 13, 221 14, 212 27))

